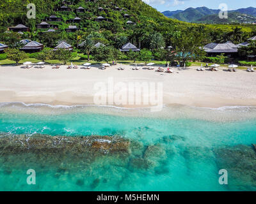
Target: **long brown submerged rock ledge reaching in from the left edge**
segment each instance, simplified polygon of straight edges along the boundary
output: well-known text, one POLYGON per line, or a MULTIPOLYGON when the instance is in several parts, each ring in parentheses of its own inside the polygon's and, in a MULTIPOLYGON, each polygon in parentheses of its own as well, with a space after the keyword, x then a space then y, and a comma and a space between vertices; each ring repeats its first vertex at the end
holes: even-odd
POLYGON ((49 136, 14 135, 0 138, 0 155, 22 152, 74 154, 129 152, 130 141, 116 136, 49 136))

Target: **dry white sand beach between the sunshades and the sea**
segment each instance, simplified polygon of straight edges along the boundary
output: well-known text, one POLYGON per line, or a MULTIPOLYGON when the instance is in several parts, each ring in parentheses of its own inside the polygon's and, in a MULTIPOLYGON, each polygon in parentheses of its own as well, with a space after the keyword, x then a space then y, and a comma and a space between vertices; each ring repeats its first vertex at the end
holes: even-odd
MULTIPOLYGON (((80 66, 79 66, 80 67, 80 66)), ((132 65, 120 64, 101 70, 91 69, 22 69, 20 66, 0 66, 0 102, 47 103, 51 105, 93 105, 93 89, 97 82, 163 82, 164 105, 182 104, 201 107, 256 106, 256 73, 196 71, 172 68, 174 73, 154 70, 132 70, 132 65)), ((224 69, 224 70, 223 70, 224 69)), ((124 105, 122 105, 124 106, 124 105)), ((125 105, 126 106, 126 105, 125 105)), ((128 105, 127 105, 128 106, 128 105)), ((131 105, 130 105, 131 106, 131 105)), ((136 105, 132 105, 136 106, 136 105)))

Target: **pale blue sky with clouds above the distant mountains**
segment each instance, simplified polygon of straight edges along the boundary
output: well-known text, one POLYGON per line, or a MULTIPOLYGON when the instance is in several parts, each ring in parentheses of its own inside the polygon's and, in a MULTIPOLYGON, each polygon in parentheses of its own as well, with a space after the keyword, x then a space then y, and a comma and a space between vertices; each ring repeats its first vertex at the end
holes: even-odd
POLYGON ((206 6, 211 9, 219 9, 220 4, 227 4, 228 10, 237 8, 256 7, 256 0, 143 0, 158 11, 186 10, 189 7, 206 6))

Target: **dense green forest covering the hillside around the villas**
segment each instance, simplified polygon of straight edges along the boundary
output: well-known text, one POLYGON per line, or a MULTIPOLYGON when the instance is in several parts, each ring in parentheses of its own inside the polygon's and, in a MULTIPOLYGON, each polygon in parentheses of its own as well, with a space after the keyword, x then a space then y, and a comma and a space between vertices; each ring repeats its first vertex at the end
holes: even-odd
MULTIPOLYGON (((221 43, 232 41, 242 43, 248 38, 256 35, 255 25, 207 25, 191 24, 179 20, 164 17, 162 13, 155 10, 141 0, 95 0, 95 2, 84 0, 69 0, 63 4, 62 0, 2 0, 0 3, 0 42, 10 48, 19 48, 19 41, 29 39, 44 44, 44 47, 53 48, 60 41, 66 41, 75 52, 89 55, 93 52, 95 43, 103 43, 112 49, 116 59, 120 58, 116 50, 127 42, 136 47, 151 52, 155 60, 166 60, 166 48, 172 46, 177 52, 190 53, 193 56, 204 55, 198 50, 210 42, 221 43), (69 2, 67 4, 67 2, 69 2), (26 5, 34 3, 36 6, 36 18, 28 19, 26 5), (72 11, 56 11, 67 5, 72 11), (76 13, 76 9, 82 6, 86 11, 76 13), (122 10, 116 10, 116 6, 122 10), (99 11, 99 7, 106 10, 99 11), (130 15, 125 18, 124 14, 130 15), (56 32, 45 33, 47 29, 36 29, 36 24, 45 21, 46 17, 56 15, 62 19, 61 22, 51 22, 58 25, 56 32), (94 19, 102 16, 108 21, 97 22, 94 19), (79 23, 67 23, 67 20, 75 17, 81 18, 79 23), (127 24, 131 20, 135 24, 127 24), (6 32, 8 27, 24 24, 29 27, 29 32, 22 34, 6 32), (68 25, 77 25, 79 31, 67 33, 68 25), (82 42, 84 47, 78 47, 82 42)), ((103 48, 102 48, 103 49, 103 48)), ((108 53, 104 48, 102 53, 108 53)), ((145 51, 145 53, 146 53, 145 51)), ((95 54, 97 55, 97 54, 95 54)), ((122 56, 125 58, 124 56, 122 56)), ((136 54, 126 54, 126 59, 135 59, 136 54)), ((182 61, 188 61, 188 56, 180 56, 182 61)), ((196 59, 193 59, 196 60, 196 59)))

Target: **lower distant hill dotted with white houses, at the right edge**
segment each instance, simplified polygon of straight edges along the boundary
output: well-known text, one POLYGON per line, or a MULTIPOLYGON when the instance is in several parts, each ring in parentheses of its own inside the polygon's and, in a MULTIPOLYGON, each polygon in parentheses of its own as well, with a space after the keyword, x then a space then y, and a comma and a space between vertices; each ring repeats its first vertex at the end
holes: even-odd
POLYGON ((204 17, 195 21, 195 23, 203 24, 250 24, 252 22, 256 22, 256 17, 235 11, 230 11, 228 13, 228 18, 221 19, 219 18, 218 14, 213 14, 205 15, 204 17))

